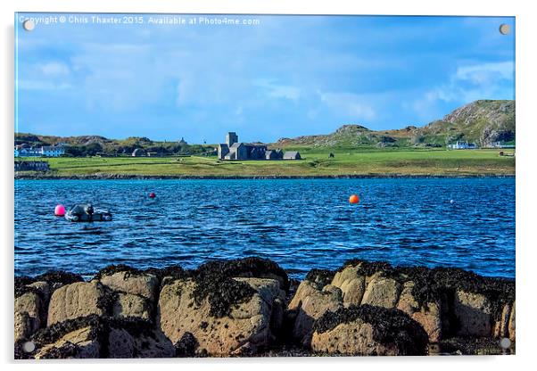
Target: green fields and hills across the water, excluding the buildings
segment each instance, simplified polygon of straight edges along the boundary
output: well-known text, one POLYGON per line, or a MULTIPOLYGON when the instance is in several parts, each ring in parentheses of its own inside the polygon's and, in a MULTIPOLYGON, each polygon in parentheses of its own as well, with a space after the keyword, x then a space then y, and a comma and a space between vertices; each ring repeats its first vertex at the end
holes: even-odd
POLYGON ((514 175, 514 152, 504 150, 500 156, 499 150, 446 151, 445 144, 457 140, 514 143, 515 134, 515 102, 476 101, 422 128, 373 131, 344 125, 332 134, 282 138, 269 144, 300 151, 302 161, 219 161, 214 145, 154 142, 146 137, 113 140, 19 133, 15 144, 70 144, 70 157, 44 159, 51 169, 45 174, 48 177, 471 176, 514 175), (133 158, 130 153, 135 148, 166 156, 133 158), (95 157, 96 153, 112 157, 95 157))

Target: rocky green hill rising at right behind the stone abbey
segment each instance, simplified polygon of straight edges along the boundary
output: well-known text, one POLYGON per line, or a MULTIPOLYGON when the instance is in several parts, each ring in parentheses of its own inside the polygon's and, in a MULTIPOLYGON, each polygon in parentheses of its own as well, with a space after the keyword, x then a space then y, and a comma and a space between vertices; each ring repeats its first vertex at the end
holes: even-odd
POLYGON ((332 134, 281 138, 280 147, 441 147, 456 141, 480 146, 515 143, 515 101, 475 101, 424 127, 408 126, 373 131, 361 125, 343 125, 332 134))

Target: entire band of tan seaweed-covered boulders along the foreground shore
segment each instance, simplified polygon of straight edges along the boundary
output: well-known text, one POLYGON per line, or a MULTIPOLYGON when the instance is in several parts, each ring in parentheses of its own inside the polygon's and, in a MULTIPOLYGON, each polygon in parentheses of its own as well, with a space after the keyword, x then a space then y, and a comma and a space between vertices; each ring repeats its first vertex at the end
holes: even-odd
POLYGON ((350 260, 298 282, 245 258, 49 272, 14 291, 15 359, 515 352, 515 281, 456 268, 350 260))

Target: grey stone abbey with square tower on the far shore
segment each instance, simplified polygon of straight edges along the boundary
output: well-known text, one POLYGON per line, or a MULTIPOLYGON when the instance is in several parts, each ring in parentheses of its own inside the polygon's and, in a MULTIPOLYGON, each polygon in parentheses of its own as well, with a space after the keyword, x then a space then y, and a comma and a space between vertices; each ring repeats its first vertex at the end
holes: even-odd
POLYGON ((269 150, 266 144, 239 142, 235 132, 226 135, 226 143, 219 144, 217 154, 220 160, 282 160, 282 150, 269 150))

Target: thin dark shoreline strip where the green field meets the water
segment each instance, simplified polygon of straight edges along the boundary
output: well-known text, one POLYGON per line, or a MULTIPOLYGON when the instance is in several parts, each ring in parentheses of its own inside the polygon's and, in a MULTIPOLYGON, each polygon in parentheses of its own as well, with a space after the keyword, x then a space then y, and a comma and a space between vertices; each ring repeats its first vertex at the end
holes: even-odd
POLYGON ((178 180, 248 180, 248 179, 390 179, 390 178, 409 178, 409 179, 427 179, 427 178, 479 178, 479 177, 496 177, 511 178, 516 174, 349 174, 349 175, 302 175, 302 176, 180 176, 180 175, 132 175, 132 174, 92 174, 92 175, 72 175, 72 176, 53 176, 53 175, 20 175, 15 174, 14 180, 120 180, 120 179, 178 179, 178 180))

